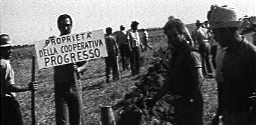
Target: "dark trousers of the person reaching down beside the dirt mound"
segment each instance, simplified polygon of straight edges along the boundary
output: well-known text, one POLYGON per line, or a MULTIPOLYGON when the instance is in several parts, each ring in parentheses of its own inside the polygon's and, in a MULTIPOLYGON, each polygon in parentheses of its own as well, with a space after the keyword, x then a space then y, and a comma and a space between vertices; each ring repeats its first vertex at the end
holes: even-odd
POLYGON ((201 94, 193 103, 189 101, 189 98, 184 97, 175 99, 172 105, 177 125, 203 125, 204 103, 201 94))

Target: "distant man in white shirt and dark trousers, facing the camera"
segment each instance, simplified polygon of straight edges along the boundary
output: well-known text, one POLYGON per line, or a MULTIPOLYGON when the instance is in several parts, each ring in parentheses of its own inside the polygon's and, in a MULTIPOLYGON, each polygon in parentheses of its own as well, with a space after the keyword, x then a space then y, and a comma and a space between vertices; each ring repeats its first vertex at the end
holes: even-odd
POLYGON ((138 29, 139 22, 131 22, 131 30, 128 31, 127 39, 129 42, 129 48, 131 50, 130 54, 130 66, 131 66, 131 75, 137 75, 140 73, 140 48, 142 51, 143 47, 140 43, 140 36, 138 29), (140 47, 140 48, 139 48, 140 47))

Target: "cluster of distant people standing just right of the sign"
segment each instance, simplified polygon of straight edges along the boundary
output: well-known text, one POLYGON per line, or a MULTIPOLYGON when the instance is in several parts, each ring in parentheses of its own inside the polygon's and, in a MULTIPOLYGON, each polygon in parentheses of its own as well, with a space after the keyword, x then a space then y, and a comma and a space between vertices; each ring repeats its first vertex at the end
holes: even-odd
POLYGON ((130 65, 131 75, 138 75, 140 73, 140 51, 147 50, 147 47, 153 50, 148 45, 148 33, 145 29, 142 29, 143 42, 141 42, 138 25, 139 22, 137 21, 131 22, 131 30, 128 31, 125 31, 124 25, 121 25, 120 31, 116 33, 115 38, 112 36, 112 28, 106 28, 105 41, 108 52, 108 57, 105 57, 106 83, 109 83, 111 69, 113 81, 117 81, 120 78, 118 53, 121 56, 122 71, 129 70, 130 65))

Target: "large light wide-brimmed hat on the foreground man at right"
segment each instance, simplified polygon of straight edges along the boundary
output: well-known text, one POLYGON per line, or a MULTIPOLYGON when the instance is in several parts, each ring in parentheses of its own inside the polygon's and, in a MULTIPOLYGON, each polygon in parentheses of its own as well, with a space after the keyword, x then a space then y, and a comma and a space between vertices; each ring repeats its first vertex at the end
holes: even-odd
POLYGON ((240 24, 241 21, 238 19, 236 10, 227 6, 222 6, 212 10, 209 17, 209 27, 207 28, 233 28, 239 27, 240 24))

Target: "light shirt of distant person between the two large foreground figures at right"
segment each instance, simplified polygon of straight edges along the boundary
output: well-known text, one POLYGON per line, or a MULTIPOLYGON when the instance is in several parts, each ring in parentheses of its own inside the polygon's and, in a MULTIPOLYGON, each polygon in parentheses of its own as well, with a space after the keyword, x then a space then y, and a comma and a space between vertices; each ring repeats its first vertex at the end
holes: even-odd
POLYGON ((198 28, 195 30, 194 39, 197 44, 202 44, 208 41, 209 34, 207 33, 207 29, 205 28, 198 28))

